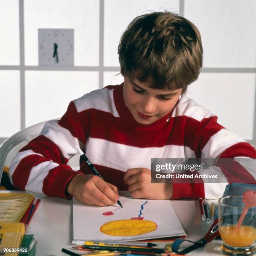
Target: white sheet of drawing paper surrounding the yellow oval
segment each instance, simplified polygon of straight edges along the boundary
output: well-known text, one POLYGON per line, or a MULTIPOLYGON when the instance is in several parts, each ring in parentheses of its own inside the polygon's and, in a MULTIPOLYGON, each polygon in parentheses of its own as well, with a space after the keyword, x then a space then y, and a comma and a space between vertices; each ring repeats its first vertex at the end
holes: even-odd
POLYGON ((120 197, 119 200, 123 208, 120 208, 118 204, 107 207, 83 205, 73 199, 73 243, 137 241, 186 235, 170 200, 146 200, 131 197, 120 197), (143 205, 143 209, 141 205, 143 205), (113 212, 113 215, 102 215, 103 212, 110 211, 113 212), (127 220, 138 216, 143 217, 143 220, 155 222, 156 230, 138 236, 110 236, 100 231, 100 227, 109 221, 127 220))

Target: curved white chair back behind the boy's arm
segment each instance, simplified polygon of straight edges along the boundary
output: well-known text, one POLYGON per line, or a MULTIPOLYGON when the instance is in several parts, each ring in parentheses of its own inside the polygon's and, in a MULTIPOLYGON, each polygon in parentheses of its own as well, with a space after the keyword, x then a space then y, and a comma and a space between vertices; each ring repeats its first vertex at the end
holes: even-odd
POLYGON ((4 169, 6 158, 7 158, 8 154, 10 153, 10 151, 13 148, 15 148, 16 146, 18 146, 19 144, 24 143, 24 142, 28 143, 33 138, 38 136, 38 134, 41 132, 41 130, 43 129, 44 124, 46 122, 47 121, 42 122, 42 123, 37 123, 35 125, 27 127, 25 129, 19 131, 18 133, 15 133, 13 136, 6 139, 1 144, 1 146, 0 146, 0 180, 3 175, 3 169, 4 169))

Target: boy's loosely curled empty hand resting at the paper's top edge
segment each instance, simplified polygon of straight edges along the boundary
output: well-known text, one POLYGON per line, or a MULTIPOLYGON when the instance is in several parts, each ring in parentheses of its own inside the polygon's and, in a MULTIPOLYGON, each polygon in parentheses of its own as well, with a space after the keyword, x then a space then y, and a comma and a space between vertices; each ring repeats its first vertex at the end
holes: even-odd
POLYGON ((172 184, 151 183, 151 170, 147 168, 128 169, 124 182, 134 198, 162 200, 172 197, 172 184))

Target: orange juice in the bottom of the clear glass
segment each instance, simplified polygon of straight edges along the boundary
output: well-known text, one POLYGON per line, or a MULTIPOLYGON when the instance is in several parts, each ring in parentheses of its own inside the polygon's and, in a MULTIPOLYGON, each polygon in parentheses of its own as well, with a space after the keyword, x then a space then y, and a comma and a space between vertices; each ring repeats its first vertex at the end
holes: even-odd
POLYGON ((228 246, 246 247, 252 245, 256 240, 256 228, 241 225, 236 230, 236 225, 227 225, 220 228, 220 236, 228 246))

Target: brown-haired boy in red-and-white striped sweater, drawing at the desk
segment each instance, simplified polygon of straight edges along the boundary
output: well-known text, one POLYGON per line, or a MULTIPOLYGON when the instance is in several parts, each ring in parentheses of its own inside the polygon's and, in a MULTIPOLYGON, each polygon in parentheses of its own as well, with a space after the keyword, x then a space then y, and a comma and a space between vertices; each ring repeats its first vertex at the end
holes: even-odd
POLYGON ((169 12, 135 18, 118 47, 124 83, 70 102, 61 120, 49 121, 13 159, 13 185, 99 206, 114 204, 118 189, 159 200, 221 197, 228 179, 222 184, 151 183, 151 158, 256 158, 251 145, 184 95, 200 73, 202 52, 200 33, 185 18, 169 12), (105 181, 84 163, 79 172, 67 165, 75 146, 105 181))

